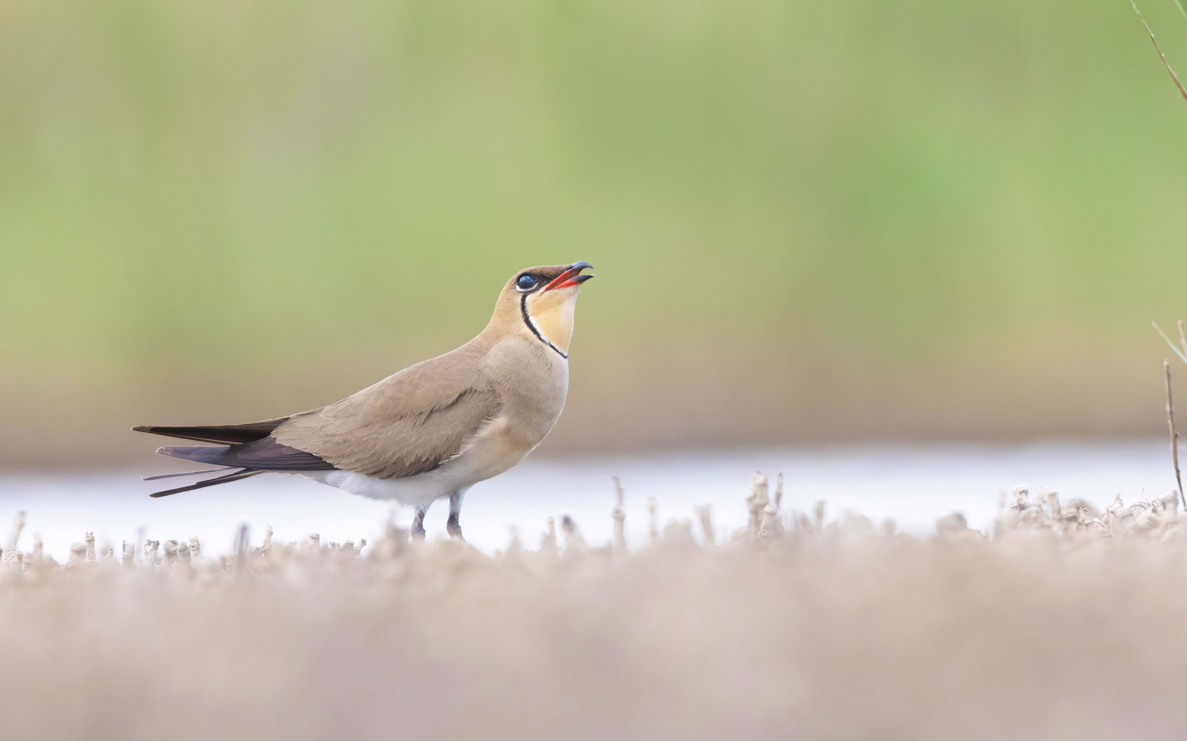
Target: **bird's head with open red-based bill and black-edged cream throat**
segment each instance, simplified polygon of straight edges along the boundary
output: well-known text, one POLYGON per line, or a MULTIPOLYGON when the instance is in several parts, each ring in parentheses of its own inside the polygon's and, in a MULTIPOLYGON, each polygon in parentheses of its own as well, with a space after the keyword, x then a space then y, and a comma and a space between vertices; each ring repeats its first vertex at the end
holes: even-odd
POLYGON ((592 267, 588 262, 575 262, 520 270, 499 294, 491 322, 528 334, 569 357, 577 293, 582 283, 594 277, 582 275, 582 270, 592 267))

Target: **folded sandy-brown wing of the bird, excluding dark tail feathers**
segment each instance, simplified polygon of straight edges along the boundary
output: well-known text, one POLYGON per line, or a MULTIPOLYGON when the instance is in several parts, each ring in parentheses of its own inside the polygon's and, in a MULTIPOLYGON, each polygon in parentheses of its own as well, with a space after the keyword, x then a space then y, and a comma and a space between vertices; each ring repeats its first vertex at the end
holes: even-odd
POLYGON ((449 460, 497 413, 497 397, 475 359, 455 351, 324 409, 293 415, 272 437, 343 471, 398 479, 449 460))

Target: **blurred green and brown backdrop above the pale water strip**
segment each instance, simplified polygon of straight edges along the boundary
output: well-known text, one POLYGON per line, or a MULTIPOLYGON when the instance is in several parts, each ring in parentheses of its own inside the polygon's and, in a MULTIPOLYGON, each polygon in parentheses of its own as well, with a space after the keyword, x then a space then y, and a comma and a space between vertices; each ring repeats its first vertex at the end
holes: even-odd
POLYGON ((575 260, 545 452, 1162 434, 1185 136, 1125 1, 0 0, 0 466, 332 402, 575 260))

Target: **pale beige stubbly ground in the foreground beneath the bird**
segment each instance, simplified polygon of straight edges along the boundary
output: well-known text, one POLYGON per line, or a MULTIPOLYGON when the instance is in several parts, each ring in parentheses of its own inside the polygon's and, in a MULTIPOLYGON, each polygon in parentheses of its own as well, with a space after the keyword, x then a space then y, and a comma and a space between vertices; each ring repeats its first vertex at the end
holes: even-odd
MULTIPOLYGON (((773 500, 772 500, 773 499, 773 500)), ((1187 723, 1187 517, 1021 487, 994 539, 783 513, 717 544, 5 555, 12 737, 1154 739, 1187 723), (558 552, 559 550, 559 552, 558 552)), ((618 511, 615 512, 617 515, 618 511)), ((704 515, 705 520, 709 513, 704 515)), ((621 518, 618 519, 621 523, 621 518)), ((566 524, 567 525, 567 524, 566 524)), ((718 538, 721 541, 722 538, 718 538)))

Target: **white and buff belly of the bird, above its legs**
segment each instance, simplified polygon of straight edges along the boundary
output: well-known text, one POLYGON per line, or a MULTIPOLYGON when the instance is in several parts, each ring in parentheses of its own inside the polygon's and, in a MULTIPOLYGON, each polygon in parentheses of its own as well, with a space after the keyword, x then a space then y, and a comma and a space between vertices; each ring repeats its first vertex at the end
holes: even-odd
POLYGON ((354 471, 299 471, 300 475, 335 488, 367 497, 398 502, 412 507, 430 504, 453 492, 464 492, 478 481, 499 475, 532 452, 508 432, 506 417, 491 422, 455 458, 432 471, 402 479, 379 479, 354 471))

